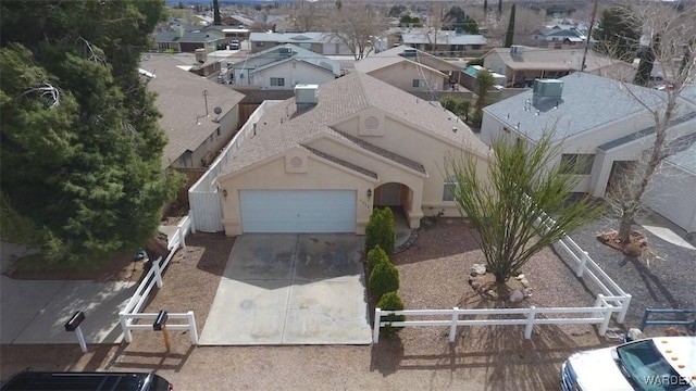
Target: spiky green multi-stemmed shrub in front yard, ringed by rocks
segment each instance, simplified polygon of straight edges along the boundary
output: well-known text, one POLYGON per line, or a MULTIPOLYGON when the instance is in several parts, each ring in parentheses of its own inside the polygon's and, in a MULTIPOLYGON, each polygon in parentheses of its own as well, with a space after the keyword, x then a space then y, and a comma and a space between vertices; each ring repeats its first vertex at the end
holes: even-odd
POLYGON ((452 198, 477 227, 486 269, 502 283, 532 256, 593 220, 598 209, 588 197, 571 200, 577 177, 558 162, 556 128, 535 143, 505 135, 494 140, 482 175, 475 157, 447 155, 445 175, 458 186, 452 198))

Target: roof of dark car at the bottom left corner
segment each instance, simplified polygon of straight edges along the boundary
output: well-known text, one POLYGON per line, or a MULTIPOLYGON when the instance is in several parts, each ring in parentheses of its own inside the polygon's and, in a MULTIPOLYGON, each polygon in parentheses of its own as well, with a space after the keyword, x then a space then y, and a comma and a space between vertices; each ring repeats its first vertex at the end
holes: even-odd
POLYGON ((153 373, 21 371, 0 391, 173 391, 174 386, 153 373))

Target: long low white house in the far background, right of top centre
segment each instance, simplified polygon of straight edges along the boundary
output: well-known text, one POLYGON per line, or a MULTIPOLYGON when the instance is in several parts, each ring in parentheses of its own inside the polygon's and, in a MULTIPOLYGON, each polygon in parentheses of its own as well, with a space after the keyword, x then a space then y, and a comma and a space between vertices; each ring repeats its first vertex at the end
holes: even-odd
POLYGON ((488 40, 482 35, 440 30, 401 34, 401 43, 435 55, 473 56, 486 52, 488 40))

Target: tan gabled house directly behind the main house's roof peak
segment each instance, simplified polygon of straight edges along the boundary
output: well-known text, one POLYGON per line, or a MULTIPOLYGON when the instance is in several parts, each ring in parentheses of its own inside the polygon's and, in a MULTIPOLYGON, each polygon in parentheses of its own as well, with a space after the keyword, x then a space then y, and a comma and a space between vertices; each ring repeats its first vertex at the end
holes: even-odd
POLYGON ((357 61, 355 67, 358 72, 427 100, 431 100, 431 94, 437 100, 438 92, 468 92, 459 85, 460 67, 407 46, 369 55, 357 61))

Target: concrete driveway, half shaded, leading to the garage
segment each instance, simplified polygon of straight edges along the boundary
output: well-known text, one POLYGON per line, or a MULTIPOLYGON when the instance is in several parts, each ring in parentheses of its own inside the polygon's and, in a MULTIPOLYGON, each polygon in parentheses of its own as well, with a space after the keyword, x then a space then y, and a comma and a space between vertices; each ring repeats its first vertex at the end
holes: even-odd
POLYGON ((200 344, 372 342, 356 235, 243 235, 235 241, 200 344))

